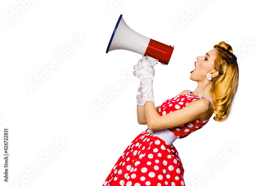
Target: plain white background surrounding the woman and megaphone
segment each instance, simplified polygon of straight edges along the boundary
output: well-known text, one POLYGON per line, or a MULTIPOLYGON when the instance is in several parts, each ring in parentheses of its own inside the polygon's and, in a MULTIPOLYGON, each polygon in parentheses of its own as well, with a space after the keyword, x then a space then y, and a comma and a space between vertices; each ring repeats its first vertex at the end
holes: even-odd
POLYGON ((139 81, 131 74, 141 55, 105 53, 120 14, 134 31, 175 45, 169 64, 155 67, 156 105, 195 90, 189 76, 197 56, 220 41, 233 47, 240 81, 229 118, 211 118, 174 145, 186 185, 254 183, 256 13, 251 1, 12 0, 1 1, 0 12, 0 156, 5 127, 10 153, 8 183, 0 161, 1 185, 102 185, 126 146, 146 129, 137 124, 139 81), (72 47, 77 35, 82 39, 72 47), (43 67, 54 60, 58 65, 47 74, 43 67), (37 79, 30 91, 27 84, 40 74, 45 79, 37 79))

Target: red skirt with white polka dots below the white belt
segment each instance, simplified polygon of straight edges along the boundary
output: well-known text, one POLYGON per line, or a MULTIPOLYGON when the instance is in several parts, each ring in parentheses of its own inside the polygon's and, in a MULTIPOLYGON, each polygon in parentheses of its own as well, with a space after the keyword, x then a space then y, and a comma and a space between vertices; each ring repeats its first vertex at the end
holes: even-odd
POLYGON ((125 149, 104 186, 185 185, 184 169, 173 145, 143 131, 125 149))

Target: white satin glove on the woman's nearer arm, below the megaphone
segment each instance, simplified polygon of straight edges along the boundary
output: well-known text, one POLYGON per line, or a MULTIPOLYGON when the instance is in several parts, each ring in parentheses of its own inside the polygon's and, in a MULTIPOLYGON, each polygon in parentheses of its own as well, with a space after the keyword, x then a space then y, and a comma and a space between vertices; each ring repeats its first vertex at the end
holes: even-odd
MULTIPOLYGON (((141 83, 141 89, 142 89, 141 91, 143 94, 142 101, 141 101, 142 106, 144 107, 144 104, 147 101, 151 101, 155 104, 154 92, 153 92, 153 78, 155 75, 155 70, 144 56, 142 56, 142 60, 138 61, 138 65, 134 66, 133 74, 139 78, 141 83)), ((138 89, 138 92, 139 92, 139 89, 138 89)), ((138 93, 137 93, 137 96, 138 96, 138 93)))

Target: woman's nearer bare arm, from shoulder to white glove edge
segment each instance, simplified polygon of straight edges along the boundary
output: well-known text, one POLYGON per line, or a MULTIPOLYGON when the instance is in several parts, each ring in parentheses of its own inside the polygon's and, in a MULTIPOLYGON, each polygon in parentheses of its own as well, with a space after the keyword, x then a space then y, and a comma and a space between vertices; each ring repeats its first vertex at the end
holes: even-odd
POLYGON ((151 101, 144 104, 144 112, 148 129, 157 130, 177 127, 196 119, 207 120, 213 113, 213 108, 207 99, 199 99, 187 104, 183 109, 159 116, 151 101))

